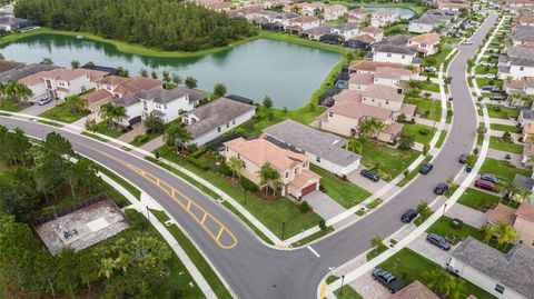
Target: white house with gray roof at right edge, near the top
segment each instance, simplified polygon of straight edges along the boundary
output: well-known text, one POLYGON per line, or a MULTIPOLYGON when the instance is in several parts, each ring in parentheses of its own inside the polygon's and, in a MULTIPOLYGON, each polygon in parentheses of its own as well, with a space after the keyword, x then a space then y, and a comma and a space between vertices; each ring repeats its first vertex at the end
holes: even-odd
POLYGON ((506 56, 498 58, 500 79, 523 79, 534 77, 534 49, 511 48, 506 56))

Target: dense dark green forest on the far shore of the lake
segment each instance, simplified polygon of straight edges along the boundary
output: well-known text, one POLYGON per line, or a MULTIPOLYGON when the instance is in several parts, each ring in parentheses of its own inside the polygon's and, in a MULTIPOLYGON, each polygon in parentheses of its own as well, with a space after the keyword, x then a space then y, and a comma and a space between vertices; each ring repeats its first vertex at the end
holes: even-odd
POLYGON ((171 0, 21 0, 16 16, 164 50, 197 51, 256 34, 244 18, 171 0))

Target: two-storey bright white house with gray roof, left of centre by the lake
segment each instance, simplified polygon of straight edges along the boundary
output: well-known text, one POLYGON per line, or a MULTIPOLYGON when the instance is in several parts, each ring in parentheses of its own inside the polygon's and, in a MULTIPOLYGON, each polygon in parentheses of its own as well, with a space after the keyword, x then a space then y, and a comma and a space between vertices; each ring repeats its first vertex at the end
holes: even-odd
POLYGON ((170 122, 195 109, 207 96, 205 92, 182 87, 170 90, 155 87, 115 98, 112 102, 126 108, 127 117, 120 121, 120 124, 128 127, 145 120, 150 114, 161 118, 164 122, 170 122))

